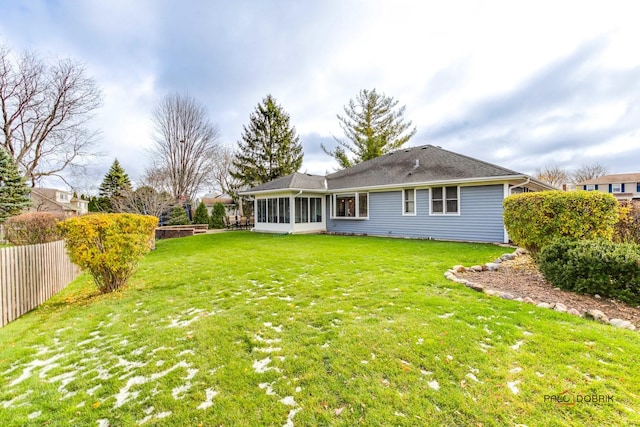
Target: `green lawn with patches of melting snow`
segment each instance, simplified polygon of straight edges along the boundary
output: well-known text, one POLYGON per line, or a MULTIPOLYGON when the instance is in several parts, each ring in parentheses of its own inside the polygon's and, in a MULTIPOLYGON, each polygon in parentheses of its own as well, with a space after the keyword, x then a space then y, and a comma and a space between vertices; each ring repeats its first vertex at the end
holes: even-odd
POLYGON ((443 277, 504 252, 159 241, 122 292, 83 275, 0 329, 0 425, 640 425, 640 334, 443 277))

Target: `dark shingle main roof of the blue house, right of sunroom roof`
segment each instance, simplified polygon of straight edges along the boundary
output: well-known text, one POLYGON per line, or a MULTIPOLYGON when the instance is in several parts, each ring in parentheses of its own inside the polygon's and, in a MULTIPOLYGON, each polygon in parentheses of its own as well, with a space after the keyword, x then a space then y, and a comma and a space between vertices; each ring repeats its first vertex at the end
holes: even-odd
POLYGON ((330 190, 523 174, 433 145, 400 149, 327 175, 330 190))

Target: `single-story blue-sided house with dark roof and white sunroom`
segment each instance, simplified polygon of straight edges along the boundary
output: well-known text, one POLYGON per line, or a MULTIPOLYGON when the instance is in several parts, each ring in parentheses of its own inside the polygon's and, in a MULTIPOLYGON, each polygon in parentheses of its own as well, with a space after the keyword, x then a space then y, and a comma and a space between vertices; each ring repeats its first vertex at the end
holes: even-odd
POLYGON ((241 194, 254 200, 255 231, 508 242, 504 198, 552 189, 528 175, 425 145, 327 176, 294 173, 241 194))

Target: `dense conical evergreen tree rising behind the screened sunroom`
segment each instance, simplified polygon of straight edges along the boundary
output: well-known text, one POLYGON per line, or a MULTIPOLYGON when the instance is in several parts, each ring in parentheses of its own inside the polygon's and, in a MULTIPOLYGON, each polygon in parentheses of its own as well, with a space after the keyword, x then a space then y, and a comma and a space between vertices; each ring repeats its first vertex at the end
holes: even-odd
POLYGON ((271 95, 256 106, 243 129, 231 176, 244 185, 260 185, 302 166, 300 137, 290 126, 289 115, 271 95))

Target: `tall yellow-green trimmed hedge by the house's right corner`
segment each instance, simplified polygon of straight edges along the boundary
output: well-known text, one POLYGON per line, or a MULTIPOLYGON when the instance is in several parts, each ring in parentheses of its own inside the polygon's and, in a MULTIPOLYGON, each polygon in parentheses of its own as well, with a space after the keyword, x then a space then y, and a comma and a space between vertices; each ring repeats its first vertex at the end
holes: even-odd
POLYGON ((504 225, 513 242, 532 254, 560 237, 610 240, 618 202, 597 191, 542 191, 507 197, 504 225))

